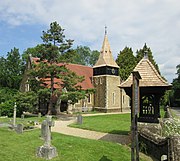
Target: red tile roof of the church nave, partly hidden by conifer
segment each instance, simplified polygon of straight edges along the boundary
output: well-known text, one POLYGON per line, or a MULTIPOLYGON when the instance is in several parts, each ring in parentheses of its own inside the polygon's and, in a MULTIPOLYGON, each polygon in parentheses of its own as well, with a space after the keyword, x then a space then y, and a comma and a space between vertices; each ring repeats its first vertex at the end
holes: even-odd
MULTIPOLYGON (((39 61, 39 58, 31 57, 31 61, 37 64, 39 61)), ((84 81, 77 84, 77 85, 80 85, 82 89, 86 90, 86 89, 94 88, 92 84, 92 76, 93 76, 92 67, 79 65, 79 64, 64 64, 64 63, 59 63, 57 65, 58 66, 65 65, 69 70, 75 72, 77 75, 84 76, 84 81)), ((43 78, 43 80, 44 80, 45 86, 50 88, 50 85, 51 85, 50 78, 43 78)), ((58 78, 55 78, 54 82, 55 82, 54 88, 61 89, 62 81, 58 78)))

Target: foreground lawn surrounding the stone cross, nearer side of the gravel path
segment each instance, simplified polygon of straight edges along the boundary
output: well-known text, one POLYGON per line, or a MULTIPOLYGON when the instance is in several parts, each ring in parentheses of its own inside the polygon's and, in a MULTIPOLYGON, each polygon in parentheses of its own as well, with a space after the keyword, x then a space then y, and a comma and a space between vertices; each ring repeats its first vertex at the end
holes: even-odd
MULTIPOLYGON (((36 149, 43 145, 40 130, 17 134, 0 128, 0 161, 41 161, 36 149)), ((58 156, 52 161, 129 161, 130 149, 115 143, 83 139, 58 133, 52 134, 58 156)), ((141 160, 146 161, 145 156, 141 160)))

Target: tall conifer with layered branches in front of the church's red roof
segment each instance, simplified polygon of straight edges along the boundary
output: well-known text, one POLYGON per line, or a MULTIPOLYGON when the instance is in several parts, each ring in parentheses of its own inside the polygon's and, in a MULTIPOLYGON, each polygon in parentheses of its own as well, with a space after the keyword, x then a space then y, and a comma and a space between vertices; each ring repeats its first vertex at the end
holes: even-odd
MULTIPOLYGON (((77 83, 83 81, 83 78, 68 70, 66 63, 58 65, 59 62, 66 61, 69 54, 72 56, 74 53, 71 49, 73 41, 64 40, 65 35, 63 31, 64 29, 62 29, 57 22, 51 23, 50 29, 46 32, 43 31, 41 37, 43 44, 40 47, 40 51, 38 51, 38 54, 40 53, 40 61, 34 64, 33 69, 30 71, 31 89, 34 89, 39 96, 50 96, 49 99, 47 99, 47 101, 49 100, 48 114, 51 114, 53 111, 53 96, 58 96, 54 88, 55 78, 60 78, 61 81, 64 82, 62 88, 67 89, 68 94, 66 94, 66 98, 71 100, 71 103, 77 102, 80 95, 83 97, 84 93, 80 86, 76 86, 77 83), (50 91, 45 90, 42 86, 43 83, 45 83, 45 78, 50 78, 50 91)), ((63 93, 61 95, 63 95, 63 93)), ((61 97, 61 99, 65 99, 65 97, 61 97)))

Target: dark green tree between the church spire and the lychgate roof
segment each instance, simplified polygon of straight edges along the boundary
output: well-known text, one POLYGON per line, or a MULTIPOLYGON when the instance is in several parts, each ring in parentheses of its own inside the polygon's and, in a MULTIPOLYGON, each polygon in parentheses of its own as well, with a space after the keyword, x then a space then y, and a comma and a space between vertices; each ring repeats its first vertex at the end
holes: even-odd
POLYGON ((133 51, 129 47, 125 47, 117 56, 116 63, 119 65, 119 75, 122 80, 126 80, 134 67, 136 66, 136 58, 133 51))

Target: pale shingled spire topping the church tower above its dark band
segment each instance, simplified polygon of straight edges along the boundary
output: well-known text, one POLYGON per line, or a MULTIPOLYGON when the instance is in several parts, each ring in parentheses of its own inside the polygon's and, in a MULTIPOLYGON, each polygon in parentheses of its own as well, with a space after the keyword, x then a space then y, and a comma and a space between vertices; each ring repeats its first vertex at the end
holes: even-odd
POLYGON ((114 61, 113 56, 112 56, 110 44, 109 44, 108 37, 107 37, 107 27, 106 26, 105 26, 105 35, 104 35, 104 41, 103 41, 102 49, 100 52, 100 56, 93 68, 103 67, 103 66, 119 68, 119 66, 116 64, 116 62, 114 61))

